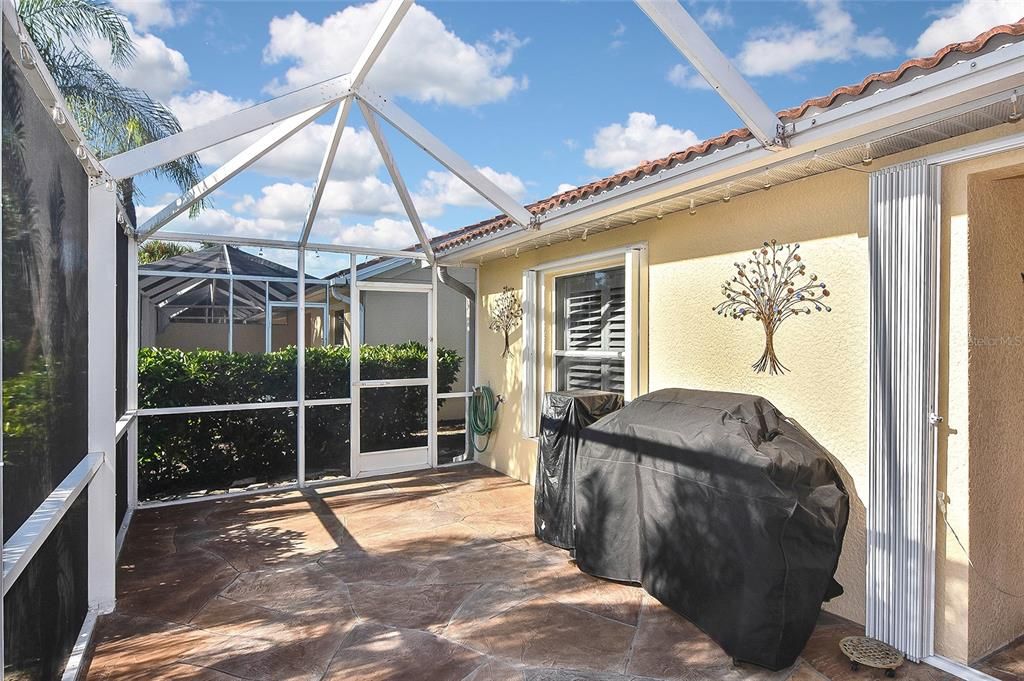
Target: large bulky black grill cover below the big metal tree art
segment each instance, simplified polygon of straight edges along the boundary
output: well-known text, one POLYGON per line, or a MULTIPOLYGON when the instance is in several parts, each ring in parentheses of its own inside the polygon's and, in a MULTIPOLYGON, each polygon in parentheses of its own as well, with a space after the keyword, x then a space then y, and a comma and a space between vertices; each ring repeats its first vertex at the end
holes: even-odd
POLYGON ((792 665, 843 592, 849 497, 824 449, 762 397, 683 389, 582 437, 580 568, 643 585, 737 661, 792 665))

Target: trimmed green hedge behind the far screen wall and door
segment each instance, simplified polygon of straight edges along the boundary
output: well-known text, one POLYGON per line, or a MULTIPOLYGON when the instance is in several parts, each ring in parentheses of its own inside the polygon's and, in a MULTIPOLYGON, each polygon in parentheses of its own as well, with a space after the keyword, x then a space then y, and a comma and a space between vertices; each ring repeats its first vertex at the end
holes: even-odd
MULTIPOLYGON (((348 397, 348 347, 306 348, 306 398, 348 397)), ((139 406, 242 405, 293 401, 297 350, 267 353, 139 351, 139 406)), ((462 366, 458 353, 437 350, 437 390, 447 392, 462 366)), ((426 376, 427 349, 419 343, 365 345, 364 380, 426 376)), ((362 391, 365 449, 411 444, 427 423, 424 386, 362 391)), ((307 470, 348 469, 348 406, 306 410, 307 470)), ((264 409, 143 417, 139 426, 139 495, 143 499, 223 488, 240 480, 294 477, 294 409, 264 409)))

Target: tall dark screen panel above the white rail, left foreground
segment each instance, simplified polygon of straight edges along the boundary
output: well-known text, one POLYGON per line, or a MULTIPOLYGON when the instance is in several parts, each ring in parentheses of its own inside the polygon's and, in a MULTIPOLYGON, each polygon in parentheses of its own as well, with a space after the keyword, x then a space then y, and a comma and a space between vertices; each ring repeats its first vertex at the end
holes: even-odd
POLYGON ((87 453, 88 182, 3 52, 4 541, 87 453))

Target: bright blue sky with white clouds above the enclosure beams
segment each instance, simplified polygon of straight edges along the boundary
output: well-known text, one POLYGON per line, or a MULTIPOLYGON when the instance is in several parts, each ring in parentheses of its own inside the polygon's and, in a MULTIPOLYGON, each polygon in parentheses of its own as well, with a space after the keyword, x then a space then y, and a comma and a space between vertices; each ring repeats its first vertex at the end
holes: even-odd
MULTIPOLYGON (((136 63, 118 77, 186 127, 344 73, 382 11, 326 1, 114 4, 138 44, 136 63)), ((1024 16, 1024 0, 686 7, 776 110, 1024 16)), ((102 45, 91 49, 105 58, 102 45)), ((632 2, 423 2, 368 82, 524 203, 739 125, 632 2)), ((294 238, 332 120, 333 112, 173 228, 294 238)), ((357 112, 348 126, 314 239, 407 246, 412 230, 357 112)), ((432 232, 495 213, 397 131, 385 126, 385 135, 432 232)), ((204 153, 207 172, 245 143, 204 153)), ((173 187, 140 185, 144 219, 173 187)))

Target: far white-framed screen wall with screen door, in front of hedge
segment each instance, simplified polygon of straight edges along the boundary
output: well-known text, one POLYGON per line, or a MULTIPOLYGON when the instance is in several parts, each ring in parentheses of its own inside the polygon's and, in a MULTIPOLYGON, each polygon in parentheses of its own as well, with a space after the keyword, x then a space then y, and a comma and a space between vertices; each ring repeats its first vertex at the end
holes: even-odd
POLYGON ((447 270, 453 288, 419 261, 332 254, 354 272, 300 285, 295 251, 265 255, 208 246, 139 268, 141 501, 471 458, 474 269, 447 270))

